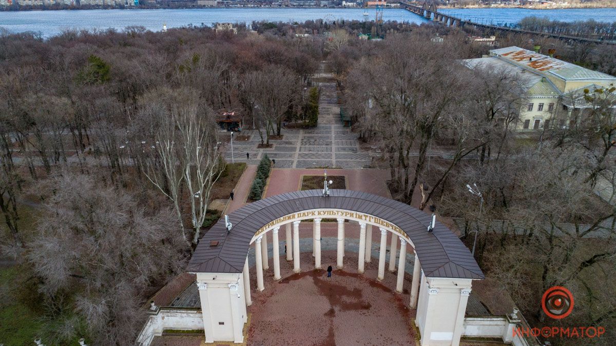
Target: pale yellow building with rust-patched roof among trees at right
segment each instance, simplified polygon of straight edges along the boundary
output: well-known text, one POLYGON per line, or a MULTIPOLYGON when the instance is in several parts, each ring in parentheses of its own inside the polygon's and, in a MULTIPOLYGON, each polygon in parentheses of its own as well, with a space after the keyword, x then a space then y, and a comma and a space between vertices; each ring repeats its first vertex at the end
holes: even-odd
POLYGON ((525 92, 517 123, 521 130, 573 126, 591 107, 584 100, 585 89, 616 86, 616 77, 609 74, 515 46, 462 61, 471 69, 484 67, 521 77, 525 92))

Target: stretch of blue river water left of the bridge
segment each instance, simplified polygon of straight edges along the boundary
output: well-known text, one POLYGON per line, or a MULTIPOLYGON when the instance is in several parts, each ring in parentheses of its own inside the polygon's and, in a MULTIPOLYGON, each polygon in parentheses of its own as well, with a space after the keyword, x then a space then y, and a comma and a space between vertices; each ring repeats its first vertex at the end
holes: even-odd
MULTIPOLYGON (((44 36, 59 34, 73 28, 122 29, 140 25, 158 31, 167 28, 213 23, 250 23, 253 20, 270 22, 305 22, 306 20, 374 20, 375 9, 127 9, 127 10, 46 10, 0 12, 0 26, 12 32, 41 31, 44 36)), ((383 20, 425 23, 423 17, 403 9, 384 9, 383 20)))

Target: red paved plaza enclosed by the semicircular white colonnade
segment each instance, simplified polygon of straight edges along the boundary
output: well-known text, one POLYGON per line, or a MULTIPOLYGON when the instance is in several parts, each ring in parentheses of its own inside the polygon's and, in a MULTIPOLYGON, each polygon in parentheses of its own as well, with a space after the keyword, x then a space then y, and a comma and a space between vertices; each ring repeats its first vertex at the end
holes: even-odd
MULTIPOLYGON (((415 310, 409 296, 396 293, 395 274, 375 280, 376 261, 357 274, 357 254, 347 252, 344 269, 291 272, 281 258, 283 279, 265 271, 265 290, 253 289, 249 308, 249 345, 412 345, 415 344, 415 310)), ((302 267, 314 265, 310 252, 302 252, 302 267)), ((324 267, 335 264, 336 252, 323 252, 324 267)), ((251 274, 254 268, 251 268, 251 274)), ((253 275, 251 275, 253 276, 253 275)), ((252 280, 256 280, 256 277, 252 280)), ((410 287, 410 276, 405 285, 410 287)))

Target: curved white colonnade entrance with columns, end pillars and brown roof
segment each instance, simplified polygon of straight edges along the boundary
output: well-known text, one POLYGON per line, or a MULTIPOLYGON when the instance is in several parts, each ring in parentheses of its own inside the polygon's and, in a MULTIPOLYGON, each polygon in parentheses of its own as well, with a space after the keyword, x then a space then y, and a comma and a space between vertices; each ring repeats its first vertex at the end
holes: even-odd
MULTIPOLYGON (((359 222, 360 244, 357 271, 370 260, 366 255, 371 232, 381 232, 378 278, 385 268, 387 235, 391 235, 390 270, 395 267, 395 251, 406 253, 409 244, 415 252, 411 284, 410 308, 416 308, 415 324, 422 345, 458 345, 471 292, 472 280, 484 278, 466 246, 445 225, 436 222, 428 231, 429 215, 393 199, 360 191, 321 190, 297 191, 272 196, 248 204, 229 215, 230 227, 219 220, 203 236, 188 264, 188 272, 196 273, 206 342, 243 342, 243 326, 247 321, 246 306, 251 304, 248 249, 254 246, 259 291, 265 289, 263 270, 269 268, 267 238, 275 244, 272 260, 274 280, 280 280, 280 230, 286 233, 286 244, 293 244, 286 259, 293 260, 294 272, 301 272, 299 223, 313 220, 312 268, 320 268, 320 223, 336 219, 337 265, 344 265, 345 220, 359 222), (369 236, 367 236, 367 234, 369 236)), ((398 260, 396 291, 402 292, 406 256, 398 260)), ((304 267, 306 265, 304 264, 304 267)), ((254 285, 253 285, 254 286, 254 285)))

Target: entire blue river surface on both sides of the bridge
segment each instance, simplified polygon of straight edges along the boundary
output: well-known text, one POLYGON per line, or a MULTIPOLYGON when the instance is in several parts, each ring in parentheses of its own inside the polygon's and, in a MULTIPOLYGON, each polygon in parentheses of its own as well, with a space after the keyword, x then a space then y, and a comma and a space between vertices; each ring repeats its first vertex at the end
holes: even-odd
MULTIPOLYGON (((616 9, 442 9, 442 12, 474 19, 485 23, 516 23, 524 17, 535 15, 551 19, 573 21, 595 19, 602 22, 616 20, 616 9)), ((322 18, 332 20, 373 20, 375 9, 127 9, 127 10, 37 10, 0 12, 0 26, 10 32, 38 31, 45 37, 54 36, 68 29, 115 28, 140 25, 158 31, 163 23, 168 28, 187 25, 212 25, 213 23, 268 20, 271 22, 304 22, 322 18), (369 15, 364 16, 364 12, 369 15)), ((423 17, 403 9, 384 9, 384 20, 425 23, 423 17)))

